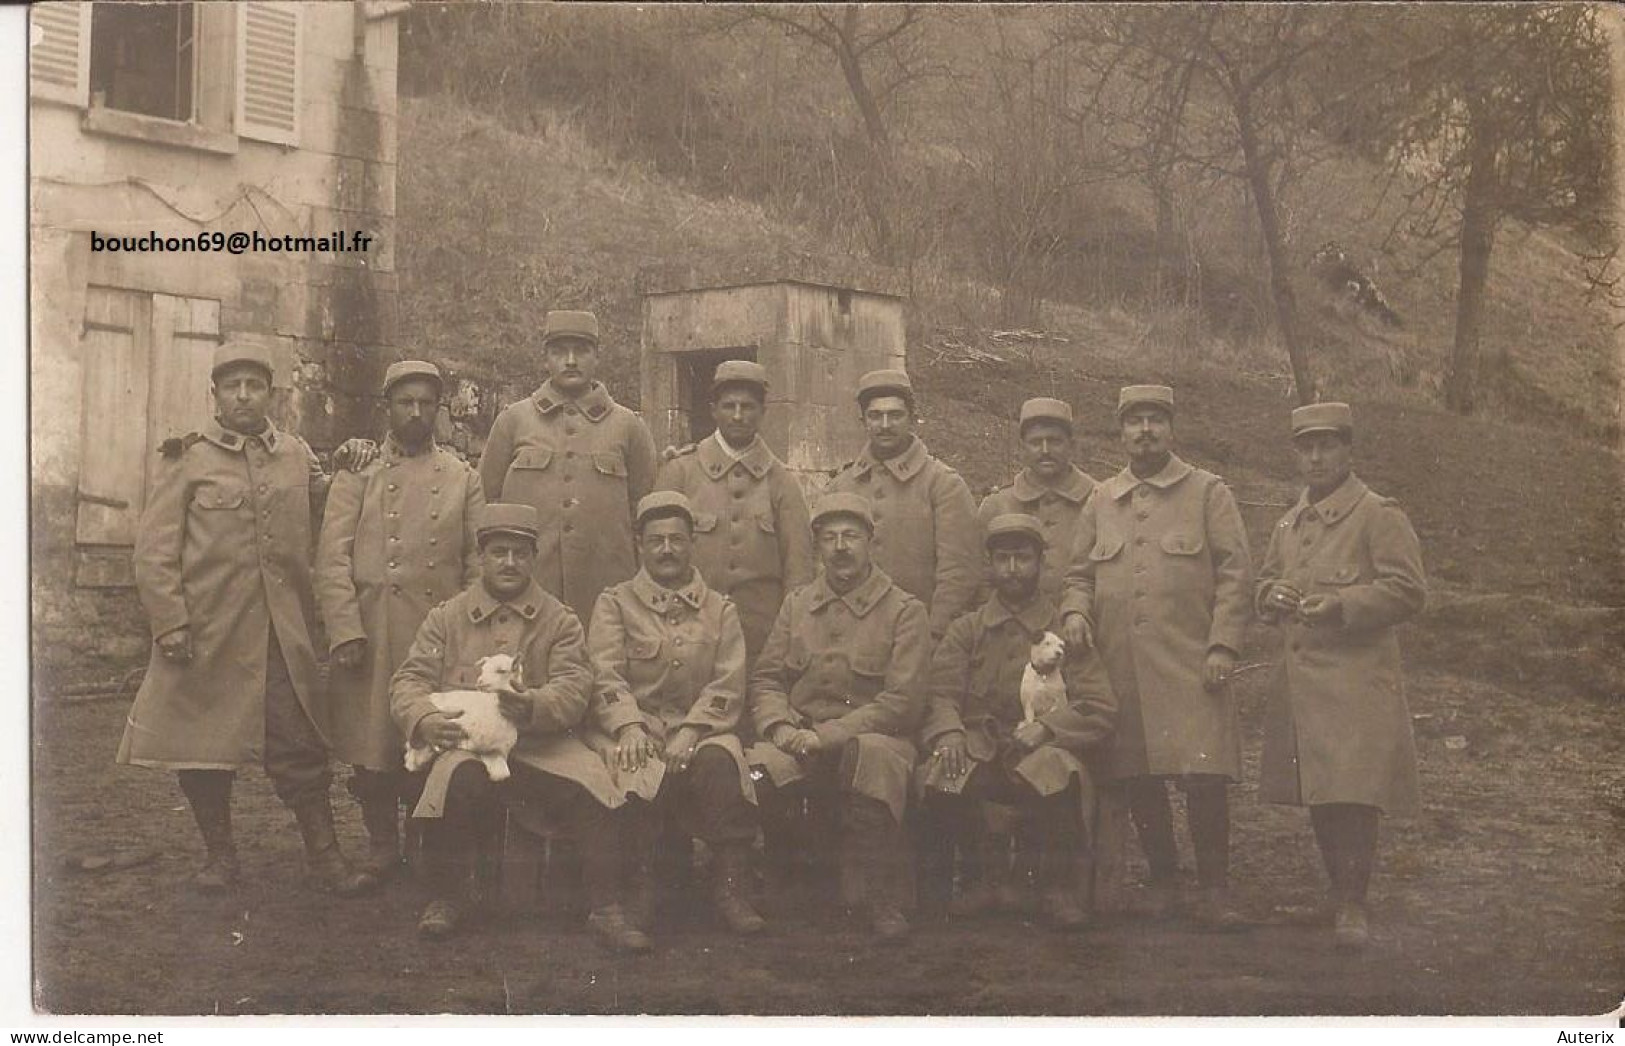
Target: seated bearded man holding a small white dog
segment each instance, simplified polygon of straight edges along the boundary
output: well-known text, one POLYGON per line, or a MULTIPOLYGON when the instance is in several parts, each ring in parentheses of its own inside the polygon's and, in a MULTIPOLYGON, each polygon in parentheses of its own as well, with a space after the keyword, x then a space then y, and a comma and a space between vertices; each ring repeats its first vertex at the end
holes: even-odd
POLYGON ((1022 700, 1034 645, 1060 633, 1055 599, 1040 591, 1043 525, 1009 513, 988 521, 993 594, 959 617, 931 661, 930 707, 920 736, 931 759, 920 768, 925 802, 939 807, 960 849, 960 893, 952 914, 994 906, 1009 853, 993 853, 988 802, 1014 806, 1038 828, 1038 887, 1050 921, 1077 929, 1077 858, 1087 853, 1094 786, 1082 759, 1112 734, 1116 700, 1089 650, 1068 650, 1060 666, 1064 702, 1027 716, 1022 700))

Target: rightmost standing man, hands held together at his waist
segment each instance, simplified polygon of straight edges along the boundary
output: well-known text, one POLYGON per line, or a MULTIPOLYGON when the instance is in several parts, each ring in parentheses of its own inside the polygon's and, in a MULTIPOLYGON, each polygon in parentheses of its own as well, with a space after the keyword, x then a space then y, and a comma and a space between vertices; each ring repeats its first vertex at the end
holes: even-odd
POLYGON ((1310 807, 1336 942, 1358 949, 1370 940, 1378 820, 1417 809, 1394 625, 1422 611, 1427 578, 1399 504, 1350 471, 1349 404, 1292 411, 1292 450, 1306 489, 1271 531, 1258 580, 1259 617, 1285 633, 1259 791, 1266 802, 1310 807))

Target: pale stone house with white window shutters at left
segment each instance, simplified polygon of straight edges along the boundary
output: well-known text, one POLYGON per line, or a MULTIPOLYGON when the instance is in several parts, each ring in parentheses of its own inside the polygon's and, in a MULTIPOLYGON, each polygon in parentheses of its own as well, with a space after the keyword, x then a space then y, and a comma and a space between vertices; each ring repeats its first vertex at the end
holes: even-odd
POLYGON ((405 6, 32 6, 31 609, 46 689, 145 659, 135 526, 159 442, 210 417, 216 343, 273 351, 275 417, 318 453, 374 419, 396 341, 405 6))

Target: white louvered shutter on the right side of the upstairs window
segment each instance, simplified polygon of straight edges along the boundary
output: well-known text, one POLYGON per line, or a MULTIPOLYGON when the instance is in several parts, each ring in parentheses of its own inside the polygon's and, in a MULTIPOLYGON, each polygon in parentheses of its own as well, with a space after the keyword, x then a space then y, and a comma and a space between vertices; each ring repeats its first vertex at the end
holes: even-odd
POLYGON ((299 5, 242 3, 237 11, 237 133, 299 145, 299 5))

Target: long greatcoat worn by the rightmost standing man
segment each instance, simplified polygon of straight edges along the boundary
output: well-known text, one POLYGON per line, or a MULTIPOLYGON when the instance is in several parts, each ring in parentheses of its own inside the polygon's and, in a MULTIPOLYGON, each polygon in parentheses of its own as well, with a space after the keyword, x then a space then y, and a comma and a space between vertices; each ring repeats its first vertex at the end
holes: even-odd
POLYGON ((1425 601, 1410 521, 1358 476, 1318 502, 1302 495, 1276 525, 1258 578, 1259 617, 1284 632, 1264 716, 1259 791, 1268 802, 1415 812, 1415 741, 1394 625, 1425 601), (1342 624, 1282 620, 1264 599, 1276 581, 1337 596, 1342 624))

